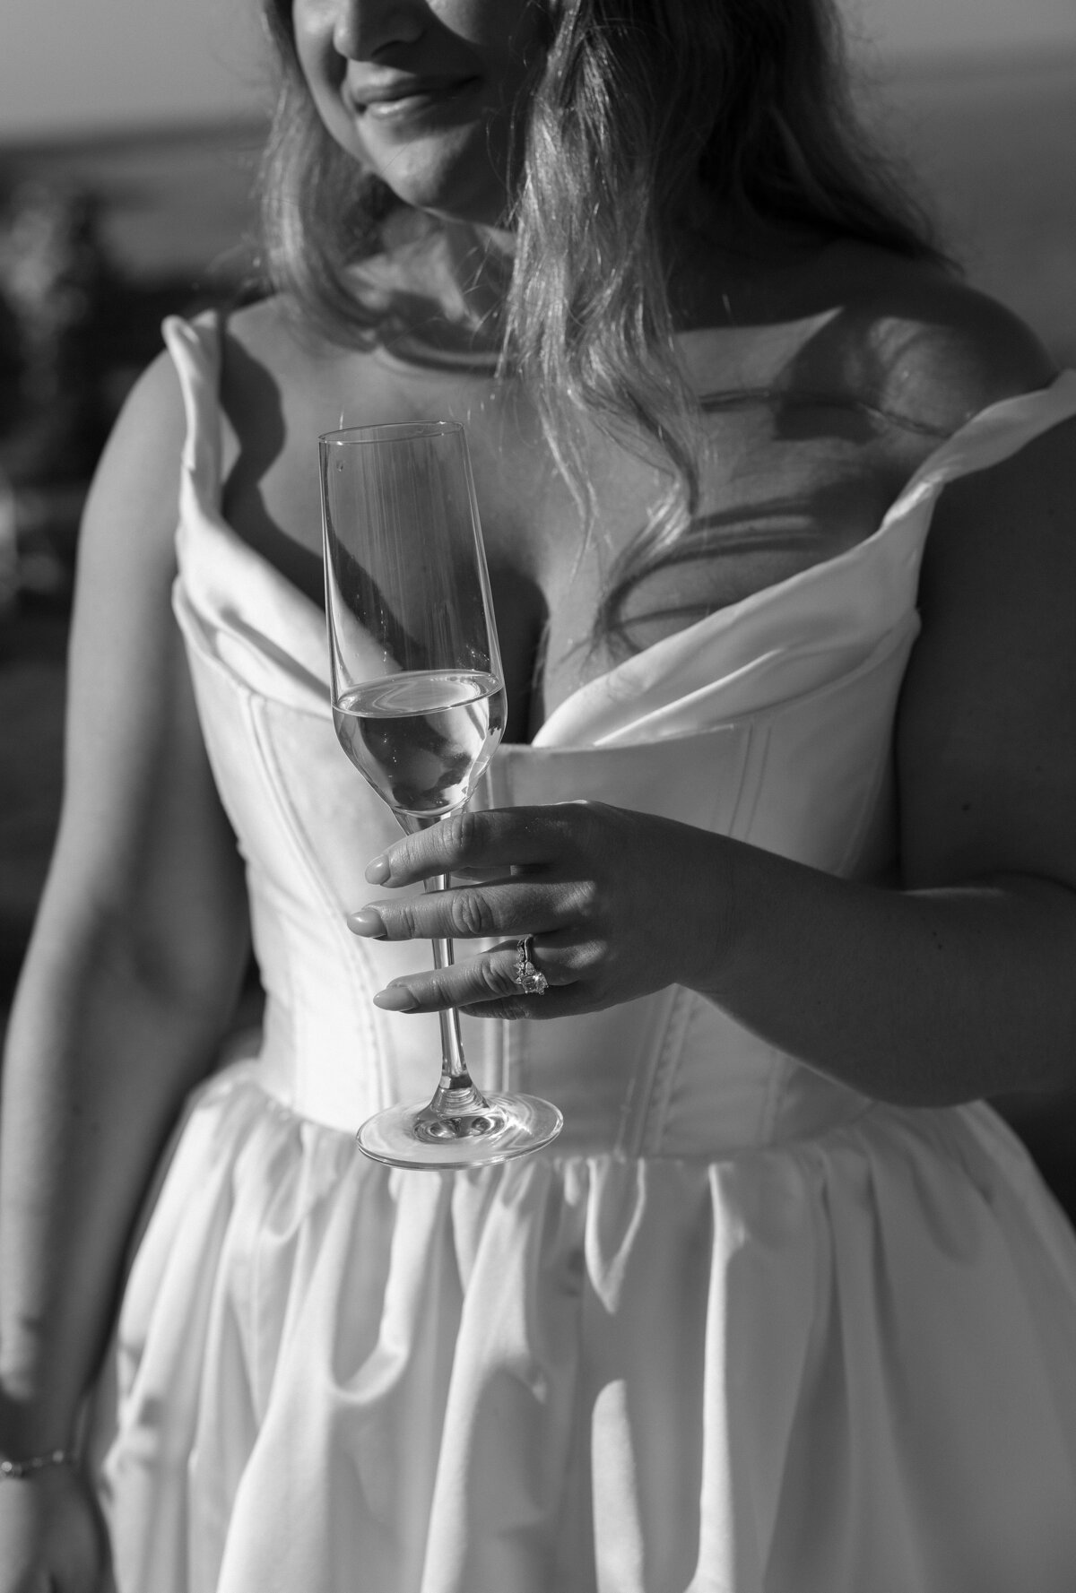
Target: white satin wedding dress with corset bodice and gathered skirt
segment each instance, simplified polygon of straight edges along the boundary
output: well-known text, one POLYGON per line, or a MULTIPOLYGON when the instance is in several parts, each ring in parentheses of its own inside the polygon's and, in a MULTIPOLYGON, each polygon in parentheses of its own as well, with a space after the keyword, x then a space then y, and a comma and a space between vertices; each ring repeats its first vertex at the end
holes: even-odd
MULTIPOLYGON (((166 335, 175 612, 268 1004, 126 1290, 121 1593, 1071 1593, 1076 1243, 985 1106, 875 1104, 671 988, 465 1021, 480 1085, 563 1109, 548 1153, 359 1153, 435 1082, 437 1020, 370 1002, 427 948, 344 926, 399 830, 336 744, 322 612, 222 521, 215 327, 166 335)), ((867 542, 579 690, 481 800, 883 875, 937 492, 1073 414, 1066 376, 977 416, 867 542)))

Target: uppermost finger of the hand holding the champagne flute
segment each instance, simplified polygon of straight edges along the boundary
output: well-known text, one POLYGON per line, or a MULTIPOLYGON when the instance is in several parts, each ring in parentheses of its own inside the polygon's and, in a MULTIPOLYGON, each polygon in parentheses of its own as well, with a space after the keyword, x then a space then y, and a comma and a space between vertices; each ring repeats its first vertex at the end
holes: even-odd
POLYGON ((410 886, 432 875, 540 868, 577 849, 587 803, 552 808, 493 808, 451 814, 429 830, 402 836, 367 868, 376 886, 410 886))

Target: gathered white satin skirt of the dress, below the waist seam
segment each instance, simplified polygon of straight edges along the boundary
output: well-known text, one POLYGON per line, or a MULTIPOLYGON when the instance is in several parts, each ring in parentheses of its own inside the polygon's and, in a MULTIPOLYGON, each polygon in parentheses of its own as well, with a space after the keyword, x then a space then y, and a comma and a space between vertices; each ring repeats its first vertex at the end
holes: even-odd
POLYGON ((236 1064, 115 1356, 120 1593, 1076 1587, 1076 1243, 987 1107, 432 1174, 236 1064))

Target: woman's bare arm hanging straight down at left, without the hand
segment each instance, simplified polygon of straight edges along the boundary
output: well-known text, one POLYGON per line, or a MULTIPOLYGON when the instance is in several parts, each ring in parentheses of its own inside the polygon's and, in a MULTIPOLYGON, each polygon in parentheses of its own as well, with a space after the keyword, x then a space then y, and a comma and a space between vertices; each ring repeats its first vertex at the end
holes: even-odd
POLYGON ((171 613, 182 436, 159 360, 80 540, 64 811, 3 1074, 0 1451, 16 1458, 72 1442, 139 1203, 247 948, 171 613))

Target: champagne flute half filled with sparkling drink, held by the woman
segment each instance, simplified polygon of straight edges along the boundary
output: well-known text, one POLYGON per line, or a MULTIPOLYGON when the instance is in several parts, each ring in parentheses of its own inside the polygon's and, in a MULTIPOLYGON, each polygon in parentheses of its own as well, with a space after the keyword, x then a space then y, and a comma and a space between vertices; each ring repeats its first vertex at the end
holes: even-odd
MULTIPOLYGON (((408 833, 470 798, 504 733, 505 695, 467 435, 451 421, 363 425, 319 438, 325 612, 336 738, 408 833)), ((427 881, 443 890, 448 876, 427 881)), ((434 940, 450 967, 451 940, 434 940)), ((459 1015, 440 1015, 432 1101, 359 1129, 375 1161, 470 1168, 547 1145, 548 1101, 475 1088, 459 1015)))

